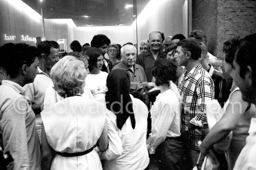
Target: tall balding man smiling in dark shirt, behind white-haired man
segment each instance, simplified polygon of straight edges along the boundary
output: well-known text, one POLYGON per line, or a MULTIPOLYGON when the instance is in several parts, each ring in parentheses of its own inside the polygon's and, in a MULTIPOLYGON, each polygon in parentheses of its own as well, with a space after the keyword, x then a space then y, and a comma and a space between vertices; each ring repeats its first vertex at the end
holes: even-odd
POLYGON ((136 64, 143 67, 146 72, 148 82, 152 82, 152 65, 155 63, 155 60, 166 58, 162 53, 162 33, 159 31, 150 33, 148 36, 148 44, 149 50, 138 56, 136 64))

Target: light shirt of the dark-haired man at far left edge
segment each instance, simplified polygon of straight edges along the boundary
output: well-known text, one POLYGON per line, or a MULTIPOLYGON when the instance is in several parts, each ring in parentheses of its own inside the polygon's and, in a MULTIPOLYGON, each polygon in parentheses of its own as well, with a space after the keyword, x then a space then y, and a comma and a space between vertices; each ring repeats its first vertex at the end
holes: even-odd
POLYGON ((13 156, 14 170, 40 170, 34 112, 25 98, 25 88, 9 80, 0 85, 0 131, 4 152, 13 156))

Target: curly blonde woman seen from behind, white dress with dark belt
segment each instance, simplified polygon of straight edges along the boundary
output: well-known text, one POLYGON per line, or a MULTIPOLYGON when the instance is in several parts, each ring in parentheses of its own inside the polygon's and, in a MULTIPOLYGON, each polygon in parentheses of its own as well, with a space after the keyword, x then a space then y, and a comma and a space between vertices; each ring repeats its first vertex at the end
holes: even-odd
POLYGON ((87 76, 84 64, 66 56, 50 74, 58 95, 57 103, 41 112, 42 170, 102 170, 93 147, 99 140, 99 150, 108 148, 107 110, 100 102, 80 95, 87 76))

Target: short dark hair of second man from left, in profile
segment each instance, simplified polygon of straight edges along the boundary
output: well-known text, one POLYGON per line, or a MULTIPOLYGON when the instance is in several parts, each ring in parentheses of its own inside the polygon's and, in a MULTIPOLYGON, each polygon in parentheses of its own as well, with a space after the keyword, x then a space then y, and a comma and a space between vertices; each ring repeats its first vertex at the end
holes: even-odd
POLYGON ((56 41, 42 41, 38 46, 38 58, 41 59, 41 54, 45 54, 46 56, 50 55, 51 47, 60 48, 59 44, 56 41))

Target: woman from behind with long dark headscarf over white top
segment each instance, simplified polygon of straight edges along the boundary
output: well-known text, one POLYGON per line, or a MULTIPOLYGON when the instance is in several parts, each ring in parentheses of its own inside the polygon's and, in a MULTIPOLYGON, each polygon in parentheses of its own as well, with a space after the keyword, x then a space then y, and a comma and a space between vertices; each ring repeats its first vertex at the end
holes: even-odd
MULTIPOLYGON (((102 158, 106 170, 145 170, 149 157, 146 147, 147 106, 129 94, 130 78, 126 71, 116 69, 108 74, 106 92, 108 127, 110 124, 119 134, 122 154, 109 160, 109 154, 102 158)), ((109 144, 110 146, 110 144, 109 144)))

